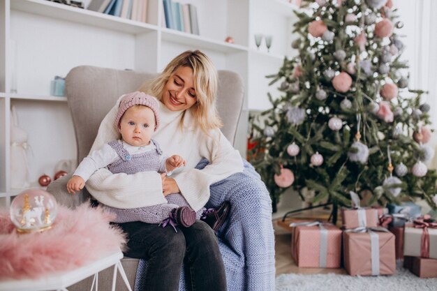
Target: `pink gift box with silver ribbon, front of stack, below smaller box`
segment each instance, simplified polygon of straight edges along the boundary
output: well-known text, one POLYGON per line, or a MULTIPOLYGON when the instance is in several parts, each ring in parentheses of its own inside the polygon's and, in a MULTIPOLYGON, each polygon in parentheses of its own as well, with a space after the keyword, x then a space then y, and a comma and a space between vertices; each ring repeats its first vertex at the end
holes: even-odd
MULTIPOLYGON (((380 227, 382 228, 382 227, 380 227)), ((396 270, 394 234, 385 231, 343 232, 344 267, 351 276, 391 275, 396 270)))

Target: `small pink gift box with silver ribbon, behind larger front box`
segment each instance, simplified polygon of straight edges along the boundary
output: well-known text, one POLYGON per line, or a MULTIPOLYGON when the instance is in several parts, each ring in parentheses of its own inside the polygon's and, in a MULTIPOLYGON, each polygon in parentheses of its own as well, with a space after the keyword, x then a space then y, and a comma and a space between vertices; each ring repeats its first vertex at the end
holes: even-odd
POLYGON ((341 218, 346 230, 378 226, 378 211, 373 208, 341 209, 341 218))

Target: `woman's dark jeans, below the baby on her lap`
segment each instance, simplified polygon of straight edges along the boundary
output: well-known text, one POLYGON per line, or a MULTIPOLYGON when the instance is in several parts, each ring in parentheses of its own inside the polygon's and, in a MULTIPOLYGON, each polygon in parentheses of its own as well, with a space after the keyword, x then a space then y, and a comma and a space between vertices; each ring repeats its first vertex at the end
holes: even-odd
POLYGON ((177 233, 170 225, 163 228, 139 221, 119 223, 119 226, 128 234, 125 255, 149 263, 147 291, 179 290, 183 262, 187 267, 188 290, 226 290, 225 267, 217 238, 203 221, 187 228, 176 227, 177 233))

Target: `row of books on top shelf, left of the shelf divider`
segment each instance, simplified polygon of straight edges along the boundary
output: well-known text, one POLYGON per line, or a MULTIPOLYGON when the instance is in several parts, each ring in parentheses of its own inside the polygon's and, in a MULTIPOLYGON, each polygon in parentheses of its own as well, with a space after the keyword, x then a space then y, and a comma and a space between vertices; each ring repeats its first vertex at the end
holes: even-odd
POLYGON ((159 0, 91 0, 88 10, 156 24, 159 0))

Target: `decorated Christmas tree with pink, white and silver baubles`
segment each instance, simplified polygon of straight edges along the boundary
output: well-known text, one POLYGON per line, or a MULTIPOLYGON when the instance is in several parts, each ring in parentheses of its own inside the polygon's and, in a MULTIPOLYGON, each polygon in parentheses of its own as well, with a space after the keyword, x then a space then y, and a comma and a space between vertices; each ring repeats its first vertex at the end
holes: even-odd
POLYGON ((420 197, 436 208, 429 105, 408 89, 396 12, 391 0, 316 0, 295 12, 299 54, 267 76, 281 96, 251 119, 250 159, 274 202, 307 188, 334 209, 350 207, 350 191, 367 205, 420 197))

